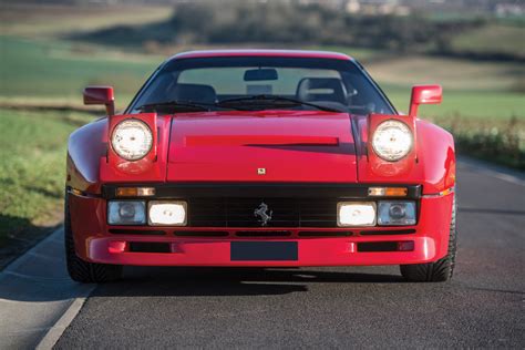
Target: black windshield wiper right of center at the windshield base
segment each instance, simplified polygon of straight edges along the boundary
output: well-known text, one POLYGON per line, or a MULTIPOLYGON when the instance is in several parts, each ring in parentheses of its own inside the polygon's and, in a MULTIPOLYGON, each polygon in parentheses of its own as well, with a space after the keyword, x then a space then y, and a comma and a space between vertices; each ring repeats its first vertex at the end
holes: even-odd
POLYGON ((254 96, 247 96, 247 97, 238 97, 238 99, 228 99, 228 100, 223 100, 220 102, 217 102, 217 106, 223 106, 223 107, 233 107, 236 105, 239 107, 239 104, 246 104, 247 109, 253 109, 254 105, 257 106, 267 106, 267 105, 274 105, 274 106, 280 106, 280 107, 294 107, 298 105, 307 105, 310 107, 315 107, 320 111, 326 111, 326 112, 337 112, 341 113, 342 111, 327 107, 323 105, 319 105, 316 103, 310 103, 301 100, 296 100, 296 99, 290 99, 290 97, 284 97, 279 95, 254 95, 254 96))

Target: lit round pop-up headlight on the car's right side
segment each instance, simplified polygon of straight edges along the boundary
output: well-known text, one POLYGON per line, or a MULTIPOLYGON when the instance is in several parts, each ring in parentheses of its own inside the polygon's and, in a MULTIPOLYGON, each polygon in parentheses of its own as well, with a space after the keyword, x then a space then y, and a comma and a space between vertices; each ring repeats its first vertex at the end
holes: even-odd
POLYGON ((412 150, 413 136, 406 124, 389 120, 379 124, 372 135, 373 151, 383 159, 395 162, 412 150))

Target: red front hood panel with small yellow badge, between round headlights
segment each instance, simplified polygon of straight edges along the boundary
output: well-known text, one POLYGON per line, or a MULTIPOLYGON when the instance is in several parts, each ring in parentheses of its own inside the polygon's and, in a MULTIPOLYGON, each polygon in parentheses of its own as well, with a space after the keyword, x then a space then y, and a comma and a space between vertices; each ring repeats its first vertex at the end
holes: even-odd
POLYGON ((171 127, 169 182, 357 182, 347 113, 187 113, 171 127))

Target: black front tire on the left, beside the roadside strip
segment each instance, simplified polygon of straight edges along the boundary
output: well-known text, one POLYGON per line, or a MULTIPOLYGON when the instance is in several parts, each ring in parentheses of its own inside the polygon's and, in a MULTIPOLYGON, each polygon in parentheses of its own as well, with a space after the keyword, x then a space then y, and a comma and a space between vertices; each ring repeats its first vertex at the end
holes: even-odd
POLYGON ((65 262, 71 279, 82 284, 100 284, 120 279, 122 277, 121 265, 106 265, 87 262, 79 258, 74 250, 74 237, 71 229, 71 215, 69 208, 68 193, 64 203, 64 244, 65 262))

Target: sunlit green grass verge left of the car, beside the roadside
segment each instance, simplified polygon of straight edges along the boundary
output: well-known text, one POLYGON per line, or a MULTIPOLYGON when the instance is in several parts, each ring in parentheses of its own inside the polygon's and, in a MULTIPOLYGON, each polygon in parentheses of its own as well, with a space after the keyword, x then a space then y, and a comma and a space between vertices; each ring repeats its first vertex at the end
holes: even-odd
POLYGON ((61 222, 69 134, 85 113, 0 109, 0 248, 28 228, 61 222))

